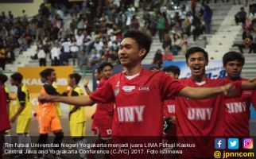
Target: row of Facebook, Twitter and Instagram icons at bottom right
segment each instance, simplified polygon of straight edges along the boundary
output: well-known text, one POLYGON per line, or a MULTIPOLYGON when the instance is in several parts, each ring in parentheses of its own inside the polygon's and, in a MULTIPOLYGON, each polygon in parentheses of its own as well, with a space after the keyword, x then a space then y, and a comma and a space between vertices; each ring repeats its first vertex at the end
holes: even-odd
MULTIPOLYGON (((226 138, 215 138, 215 149, 239 149, 239 138, 228 138, 226 146, 226 138)), ((254 139, 243 138, 242 149, 253 149, 254 139)))

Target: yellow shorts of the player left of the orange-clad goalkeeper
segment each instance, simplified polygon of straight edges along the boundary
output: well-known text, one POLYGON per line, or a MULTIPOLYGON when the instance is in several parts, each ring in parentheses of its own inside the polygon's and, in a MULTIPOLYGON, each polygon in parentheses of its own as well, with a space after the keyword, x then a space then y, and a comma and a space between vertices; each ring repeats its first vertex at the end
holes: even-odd
POLYGON ((17 118, 16 134, 29 133, 31 118, 17 118))

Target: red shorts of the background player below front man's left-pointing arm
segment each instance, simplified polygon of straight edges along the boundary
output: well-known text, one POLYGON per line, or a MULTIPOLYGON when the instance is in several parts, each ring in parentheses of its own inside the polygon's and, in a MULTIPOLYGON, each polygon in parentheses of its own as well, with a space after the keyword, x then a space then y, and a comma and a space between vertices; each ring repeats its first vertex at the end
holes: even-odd
POLYGON ((103 117, 94 116, 91 130, 98 134, 101 139, 110 139, 112 137, 112 117, 104 115, 103 117))

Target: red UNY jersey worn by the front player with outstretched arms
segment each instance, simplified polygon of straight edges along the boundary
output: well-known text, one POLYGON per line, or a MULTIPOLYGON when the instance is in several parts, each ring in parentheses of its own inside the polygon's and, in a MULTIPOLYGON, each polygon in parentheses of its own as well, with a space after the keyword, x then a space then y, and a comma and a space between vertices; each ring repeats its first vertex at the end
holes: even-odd
POLYGON ((142 68, 132 80, 118 73, 90 95, 99 103, 114 102, 114 136, 161 136, 163 100, 184 86, 163 72, 142 68))

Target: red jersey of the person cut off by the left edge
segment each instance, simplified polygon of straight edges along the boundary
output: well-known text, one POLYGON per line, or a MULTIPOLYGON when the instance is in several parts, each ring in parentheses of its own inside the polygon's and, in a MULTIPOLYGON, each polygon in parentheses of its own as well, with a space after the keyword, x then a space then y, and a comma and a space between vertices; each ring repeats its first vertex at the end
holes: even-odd
POLYGON ((10 129, 10 120, 7 114, 7 109, 6 109, 6 91, 4 87, 0 87, 0 131, 4 132, 5 130, 10 129))

